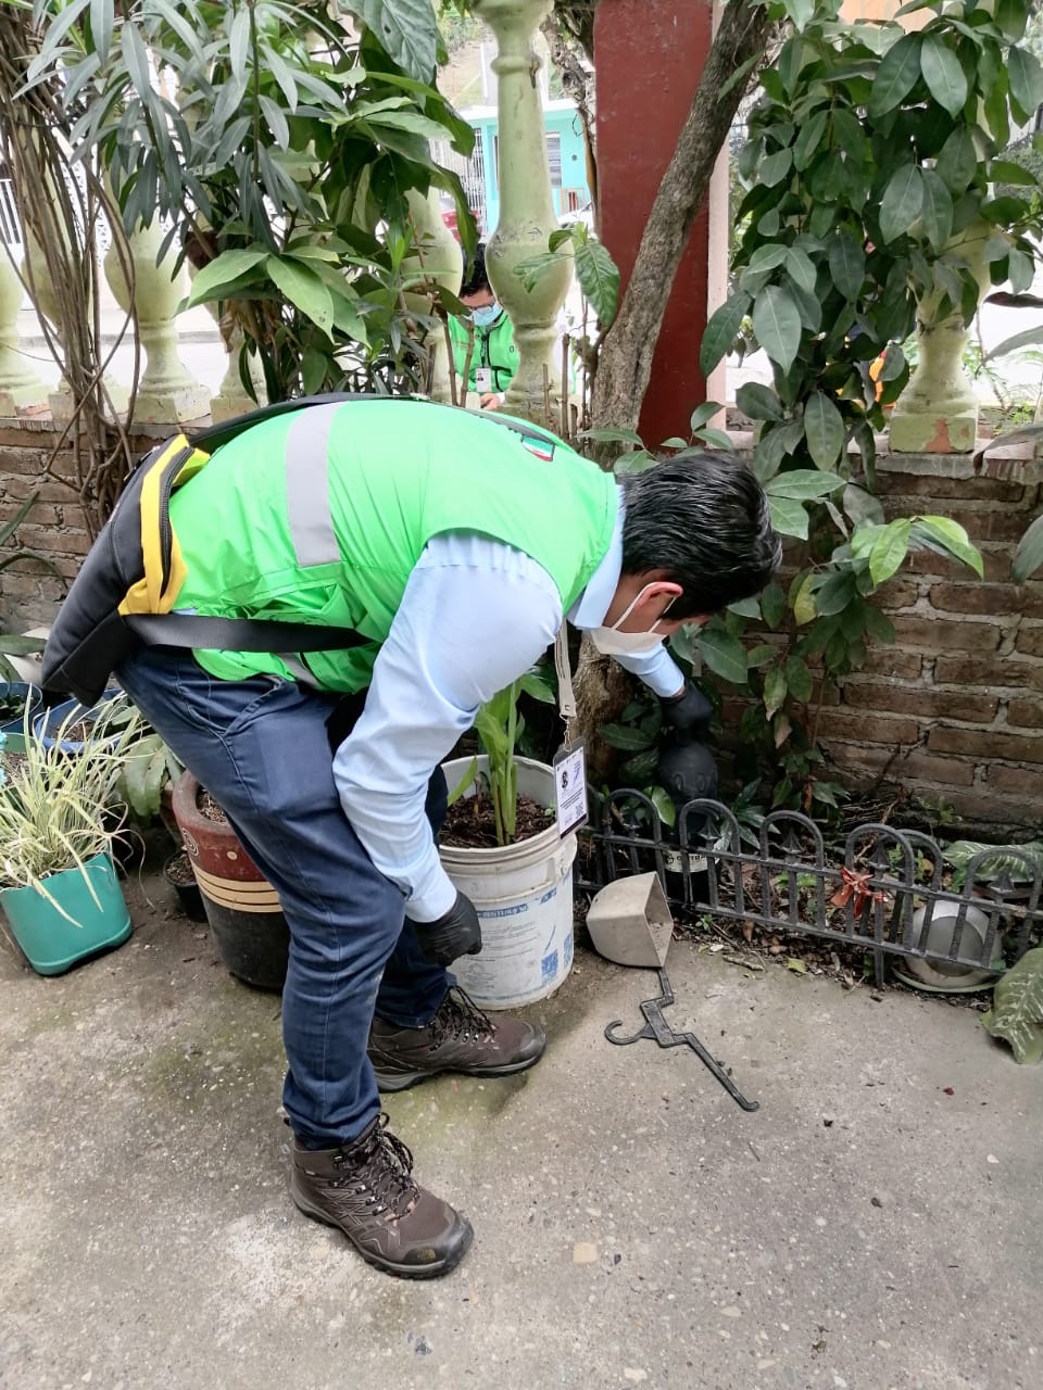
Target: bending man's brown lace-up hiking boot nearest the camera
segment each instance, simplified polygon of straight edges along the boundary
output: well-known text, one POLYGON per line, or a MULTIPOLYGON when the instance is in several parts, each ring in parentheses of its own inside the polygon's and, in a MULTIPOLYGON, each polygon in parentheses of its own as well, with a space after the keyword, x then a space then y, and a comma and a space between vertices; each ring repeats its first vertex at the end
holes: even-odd
POLYGON ((403 1279, 448 1273, 467 1251, 471 1223, 413 1182, 413 1155, 380 1115, 339 1148, 293 1143, 289 1195, 306 1216, 338 1226, 363 1259, 403 1279))

